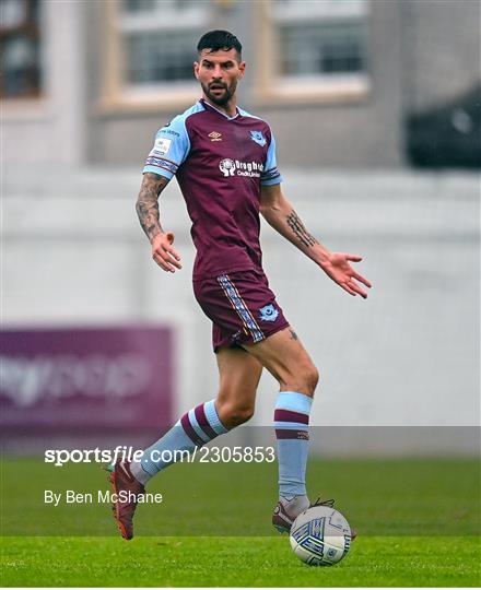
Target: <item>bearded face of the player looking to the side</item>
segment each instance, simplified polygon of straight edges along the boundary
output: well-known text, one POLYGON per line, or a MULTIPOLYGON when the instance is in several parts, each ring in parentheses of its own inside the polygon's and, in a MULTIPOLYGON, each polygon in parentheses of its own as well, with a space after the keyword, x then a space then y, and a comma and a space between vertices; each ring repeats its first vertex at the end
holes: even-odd
POLYGON ((245 61, 237 61, 235 49, 211 52, 202 49, 193 72, 206 96, 215 105, 223 106, 234 96, 237 81, 244 75, 245 61))

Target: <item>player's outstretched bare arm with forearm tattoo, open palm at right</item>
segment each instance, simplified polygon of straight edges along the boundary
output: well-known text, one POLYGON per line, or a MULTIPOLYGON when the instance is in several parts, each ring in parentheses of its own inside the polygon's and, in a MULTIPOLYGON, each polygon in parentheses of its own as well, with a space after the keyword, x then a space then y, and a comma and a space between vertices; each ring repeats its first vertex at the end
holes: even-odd
POLYGON ((371 283, 356 273, 349 263, 360 262, 362 258, 345 252, 331 252, 319 244, 283 196, 281 185, 261 187, 260 213, 269 225, 314 260, 344 291, 351 295, 367 297, 367 293, 357 282, 367 287, 371 287, 371 283))

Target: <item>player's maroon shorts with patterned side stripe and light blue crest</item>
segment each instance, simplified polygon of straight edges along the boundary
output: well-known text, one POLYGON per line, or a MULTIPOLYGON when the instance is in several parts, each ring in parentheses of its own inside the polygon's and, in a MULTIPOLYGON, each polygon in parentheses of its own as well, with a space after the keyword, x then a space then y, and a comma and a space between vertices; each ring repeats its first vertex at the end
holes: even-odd
POLYGON ((193 294, 212 320, 214 352, 260 342, 289 326, 263 272, 248 270, 195 281, 193 294))

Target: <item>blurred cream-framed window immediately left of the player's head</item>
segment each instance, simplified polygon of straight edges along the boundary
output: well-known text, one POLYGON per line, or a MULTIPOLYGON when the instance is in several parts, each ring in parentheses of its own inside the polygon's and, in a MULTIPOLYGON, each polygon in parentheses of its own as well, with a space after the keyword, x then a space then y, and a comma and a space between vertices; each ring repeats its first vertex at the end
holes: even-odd
POLYGON ((210 0, 103 2, 101 109, 188 106, 199 94, 192 63, 211 20, 210 0))

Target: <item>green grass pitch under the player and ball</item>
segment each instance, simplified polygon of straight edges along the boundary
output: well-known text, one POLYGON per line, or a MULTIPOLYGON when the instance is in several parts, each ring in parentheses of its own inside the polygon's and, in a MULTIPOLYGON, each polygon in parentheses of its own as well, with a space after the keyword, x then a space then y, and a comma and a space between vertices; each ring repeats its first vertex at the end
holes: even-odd
POLYGON ((477 587, 476 460, 313 460, 309 489, 336 497, 360 536, 335 567, 309 567, 270 527, 275 464, 180 464, 149 491, 137 536, 108 505, 45 506, 43 491, 106 489, 98 465, 2 461, 1 582, 14 586, 477 587))

